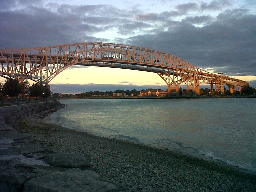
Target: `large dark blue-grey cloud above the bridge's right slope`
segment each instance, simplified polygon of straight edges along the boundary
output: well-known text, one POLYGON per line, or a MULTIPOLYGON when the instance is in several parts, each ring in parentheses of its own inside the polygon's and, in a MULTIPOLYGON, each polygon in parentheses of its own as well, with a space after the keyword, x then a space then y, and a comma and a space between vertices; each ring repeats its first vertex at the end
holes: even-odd
POLYGON ((230 76, 255 75, 255 34, 256 15, 237 9, 219 14, 203 27, 176 22, 168 31, 131 37, 126 43, 161 50, 230 76))

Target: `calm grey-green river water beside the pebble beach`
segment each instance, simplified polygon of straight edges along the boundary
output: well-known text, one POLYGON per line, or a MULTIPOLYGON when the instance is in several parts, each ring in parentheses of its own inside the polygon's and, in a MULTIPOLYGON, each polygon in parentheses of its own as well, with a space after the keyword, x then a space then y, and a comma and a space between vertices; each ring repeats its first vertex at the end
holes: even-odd
POLYGON ((256 173, 256 98, 60 100, 51 121, 256 173))

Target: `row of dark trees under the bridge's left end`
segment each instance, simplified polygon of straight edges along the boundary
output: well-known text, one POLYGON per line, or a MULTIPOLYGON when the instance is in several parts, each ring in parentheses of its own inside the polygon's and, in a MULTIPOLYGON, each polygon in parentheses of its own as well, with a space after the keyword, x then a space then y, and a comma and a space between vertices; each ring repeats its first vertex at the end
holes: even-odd
POLYGON ((24 97, 26 98, 26 96, 36 98, 47 98, 51 96, 51 92, 48 87, 39 83, 35 83, 30 86, 28 80, 19 81, 18 79, 7 79, 4 84, 0 82, 0 87, 1 101, 3 101, 4 98, 12 97, 12 102, 14 103, 15 96, 21 96, 22 100, 24 97))

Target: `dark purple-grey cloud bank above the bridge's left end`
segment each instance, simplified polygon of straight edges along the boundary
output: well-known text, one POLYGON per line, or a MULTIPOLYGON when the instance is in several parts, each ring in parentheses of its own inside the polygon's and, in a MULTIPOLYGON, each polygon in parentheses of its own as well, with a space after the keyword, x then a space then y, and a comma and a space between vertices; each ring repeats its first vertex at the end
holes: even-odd
POLYGON ((84 23, 74 14, 61 15, 38 7, 2 11, 0 18, 2 49, 95 41, 92 33, 104 30, 84 23))

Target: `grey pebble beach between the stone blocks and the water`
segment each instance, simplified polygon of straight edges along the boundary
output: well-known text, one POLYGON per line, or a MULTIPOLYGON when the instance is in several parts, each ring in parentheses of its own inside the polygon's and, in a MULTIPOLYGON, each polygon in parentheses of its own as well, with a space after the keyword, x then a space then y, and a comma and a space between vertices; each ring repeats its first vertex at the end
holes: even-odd
POLYGON ((88 157, 101 180, 123 191, 256 191, 254 174, 177 152, 94 136, 37 116, 22 121, 20 130, 54 151, 88 157))

